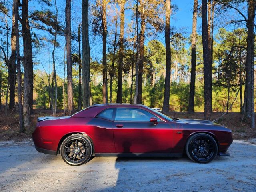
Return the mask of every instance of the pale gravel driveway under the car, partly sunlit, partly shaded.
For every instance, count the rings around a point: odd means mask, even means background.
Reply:
[[[75,167],[37,152],[31,140],[0,142],[0,191],[256,191],[256,145],[234,140],[229,152],[209,164],[97,157]]]

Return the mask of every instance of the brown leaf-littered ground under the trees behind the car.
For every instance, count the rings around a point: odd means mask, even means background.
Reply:
[[[34,126],[36,125],[37,118],[40,116],[51,116],[51,110],[34,109],[34,114],[31,116],[30,128],[25,133],[19,133],[19,115],[14,111],[0,112],[0,140],[23,140],[31,138]],[[62,116],[62,110],[59,110],[57,116]],[[191,118],[191,119],[203,119],[203,112],[195,112],[188,114],[187,112],[170,112],[168,116],[175,118]],[[213,112],[211,120],[215,120],[222,115],[221,112]],[[250,139],[256,138],[256,129],[251,129],[250,124],[246,122],[241,123],[242,114],[230,112],[226,114],[217,123],[223,124],[232,130],[234,139]]]

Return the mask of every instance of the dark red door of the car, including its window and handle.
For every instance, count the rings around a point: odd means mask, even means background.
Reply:
[[[150,122],[151,117],[158,124]],[[114,143],[117,153],[170,153],[173,129],[168,122],[140,108],[116,108]]]

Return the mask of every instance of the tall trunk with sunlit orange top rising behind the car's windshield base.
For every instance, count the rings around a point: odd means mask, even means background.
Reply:
[[[171,80],[171,44],[170,44],[170,10],[171,1],[165,2],[165,54],[166,54],[166,70],[165,70],[165,82],[164,82],[164,104],[163,112],[169,112],[170,102],[170,80]]]

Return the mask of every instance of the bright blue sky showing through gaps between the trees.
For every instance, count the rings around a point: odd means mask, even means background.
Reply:
[[[31,1],[32,3],[30,4],[30,8],[32,9],[40,9],[42,8],[42,5],[37,4],[37,1]],[[90,1],[89,1],[90,3]],[[136,2],[134,1],[133,4]],[[200,2],[199,2],[200,3]],[[175,4],[178,6],[178,10],[172,14],[171,16],[171,22],[170,25],[178,30],[182,30],[182,32],[185,33],[185,36],[189,36],[191,31],[192,31],[192,10],[193,10],[193,0],[172,0],[171,4]],[[65,1],[64,0],[57,0],[57,6],[59,9],[59,20],[61,20],[64,24],[64,9],[65,9]],[[82,3],[80,0],[72,0],[72,31],[76,32],[78,24],[81,22],[81,6]],[[128,6],[128,5],[126,5]],[[54,8],[54,7],[53,7]],[[164,12],[164,10],[163,10]],[[110,14],[110,13],[109,13]],[[131,20],[131,12],[129,10],[126,10],[126,24]],[[230,15],[232,17],[237,17],[237,14],[232,12]],[[91,17],[91,16],[90,16]],[[110,20],[111,17],[108,17],[108,20]],[[230,19],[230,18],[226,18]],[[224,26],[225,19],[221,22],[218,23],[218,27]],[[109,23],[108,23],[109,24]],[[202,24],[202,19],[198,17],[197,20],[197,29],[198,29],[198,34],[201,33],[201,24]],[[127,26],[126,26],[127,27]],[[217,32],[218,27],[214,30],[214,33]],[[111,30],[113,30],[113,26],[111,24],[108,25],[108,30],[109,30],[109,35],[111,36]],[[40,32],[42,35],[44,35],[44,32]],[[113,34],[113,33],[112,33]],[[48,35],[48,34],[47,34]],[[49,36],[49,35],[48,35]],[[163,34],[160,35],[161,41],[164,43],[164,36]],[[60,42],[60,48],[56,50],[56,66],[57,66],[57,73],[63,77],[64,74],[64,66],[63,66],[63,50],[64,50],[64,37],[58,36],[57,39]],[[147,43],[147,42],[145,42]],[[108,48],[111,48],[110,45],[107,45]],[[72,47],[74,49],[77,49],[77,42],[72,41]],[[102,37],[101,36],[92,36],[90,34],[90,48],[91,48],[91,57],[93,59],[96,59],[98,61],[101,60],[102,57]],[[40,60],[42,64],[44,64],[44,68],[48,72],[48,70],[52,70],[52,47],[48,46],[47,48],[42,48],[39,53],[35,55],[34,62],[36,60]],[[49,61],[50,61],[50,68],[49,68]],[[42,68],[42,64],[39,64],[38,66],[35,66],[34,69],[40,69],[44,70]]]

